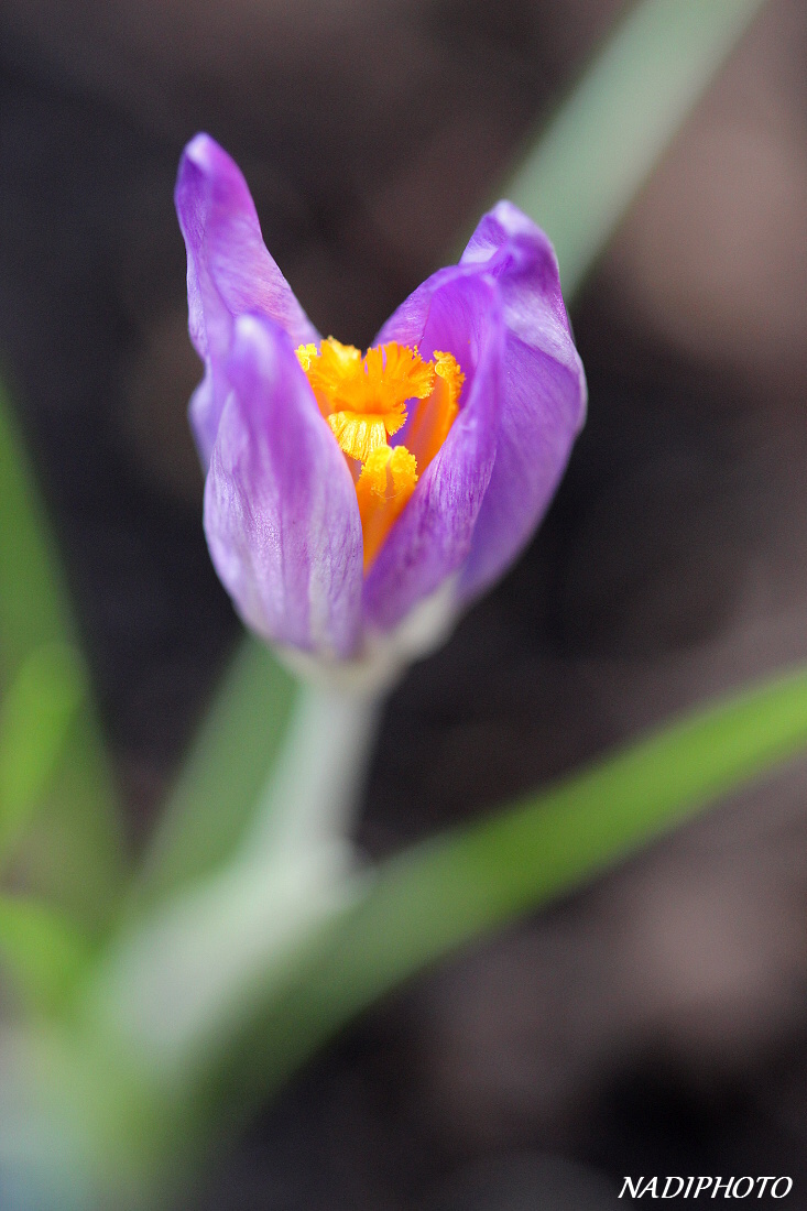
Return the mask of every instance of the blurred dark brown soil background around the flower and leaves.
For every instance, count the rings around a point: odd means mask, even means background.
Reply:
[[[237,637],[185,421],[183,144],[224,144],[314,323],[367,345],[622,8],[0,4],[0,360],[133,849]],[[807,656],[806,294],[807,7],[771,0],[578,297],[588,427],[391,698],[365,851]],[[807,1207],[803,764],[373,1011],[188,1207],[586,1211],[626,1173],[786,1173]]]

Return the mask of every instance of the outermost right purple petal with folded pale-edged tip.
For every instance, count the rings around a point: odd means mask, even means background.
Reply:
[[[502,294],[505,390],[496,465],[459,592],[496,580],[530,541],[585,419],[585,377],[544,233],[510,202],[480,222],[460,265],[492,275]]]

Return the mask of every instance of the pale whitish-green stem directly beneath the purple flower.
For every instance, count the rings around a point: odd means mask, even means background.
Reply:
[[[88,995],[93,1031],[187,1081],[251,1012],[251,989],[282,980],[297,949],[354,894],[348,830],[379,701],[298,693],[286,744],[250,831],[217,873],[132,918]]]

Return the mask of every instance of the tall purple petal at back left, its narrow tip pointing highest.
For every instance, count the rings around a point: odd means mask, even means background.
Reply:
[[[267,252],[239,167],[208,134],[198,134],[185,148],[174,201],[188,249],[190,337],[205,360],[190,419],[206,465],[227,400],[222,361],[234,318],[265,315],[294,345],[320,337]]]

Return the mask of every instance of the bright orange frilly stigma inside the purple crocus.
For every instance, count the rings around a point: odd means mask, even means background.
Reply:
[[[319,350],[301,345],[297,357],[349,460],[366,572],[412,495],[418,474],[446,440],[465,375],[452,354],[435,352],[424,362],[417,349],[394,340],[368,349],[362,358],[359,349],[328,337]],[[388,438],[405,425],[406,444],[391,447]]]

